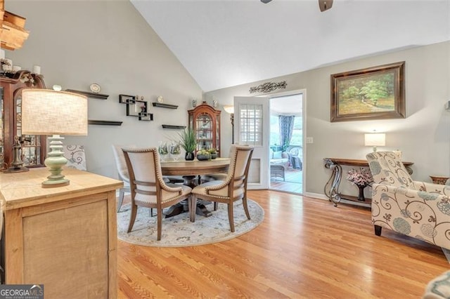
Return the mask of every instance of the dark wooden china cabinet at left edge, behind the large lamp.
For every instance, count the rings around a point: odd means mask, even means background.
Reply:
[[[23,166],[44,166],[46,157],[45,135],[22,135],[22,91],[25,88],[46,88],[43,77],[29,71],[0,74],[0,169],[13,161],[15,136],[21,143]]]

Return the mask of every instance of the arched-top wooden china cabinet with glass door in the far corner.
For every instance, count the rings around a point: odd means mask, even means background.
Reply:
[[[189,127],[195,132],[197,150],[215,148],[220,157],[220,110],[216,110],[207,102],[188,110]]]

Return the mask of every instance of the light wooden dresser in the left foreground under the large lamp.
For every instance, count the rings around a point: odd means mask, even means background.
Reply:
[[[122,181],[65,168],[0,173],[6,284],[44,284],[45,298],[117,298],[115,190]]]

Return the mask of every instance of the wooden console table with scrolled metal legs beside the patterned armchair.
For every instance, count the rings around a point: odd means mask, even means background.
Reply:
[[[325,195],[328,197],[330,201],[338,206],[338,202],[341,199],[346,199],[349,201],[349,204],[358,203],[359,206],[371,206],[372,199],[366,199],[365,201],[359,201],[358,197],[353,197],[351,195],[340,194],[339,185],[340,180],[342,179],[342,165],[345,166],[356,166],[356,167],[368,167],[368,161],[366,160],[357,160],[357,159],[338,159],[338,158],[323,158],[325,162],[325,168],[331,170],[330,178],[328,182],[326,182],[325,187],[323,187],[323,191]],[[411,169],[411,165],[413,162],[402,162],[406,168],[406,171],[411,175],[413,170]]]

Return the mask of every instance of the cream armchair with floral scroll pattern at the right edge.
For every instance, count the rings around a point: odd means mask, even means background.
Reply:
[[[450,186],[413,181],[394,152],[366,155],[373,176],[372,222],[442,248],[450,260]]]

